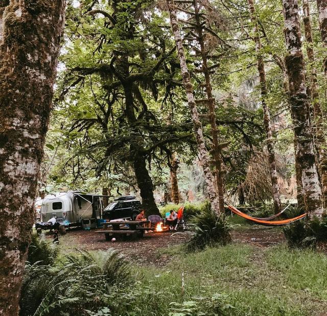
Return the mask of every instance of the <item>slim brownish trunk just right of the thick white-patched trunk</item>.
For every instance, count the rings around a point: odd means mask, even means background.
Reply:
[[[314,66],[315,57],[313,51],[313,37],[311,28],[311,18],[310,18],[310,6],[308,0],[302,0],[303,4],[303,24],[305,26],[305,36],[307,45],[307,55],[311,65],[311,98],[312,98],[312,111],[313,119],[311,120],[312,126],[314,128],[314,144],[318,157],[316,161],[319,166],[321,188],[322,188],[322,201],[323,206],[327,206],[327,151],[326,151],[326,141],[323,133],[323,114],[319,102],[319,92],[318,92],[318,79],[317,79],[317,69]]]

